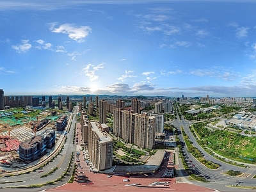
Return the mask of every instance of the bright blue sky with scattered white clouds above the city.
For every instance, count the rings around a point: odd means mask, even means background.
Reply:
[[[0,89],[256,97],[255,7],[235,0],[0,0]]]

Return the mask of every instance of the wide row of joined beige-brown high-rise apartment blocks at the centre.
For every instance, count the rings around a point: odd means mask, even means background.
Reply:
[[[113,133],[127,143],[143,148],[154,148],[156,117],[114,109]]]

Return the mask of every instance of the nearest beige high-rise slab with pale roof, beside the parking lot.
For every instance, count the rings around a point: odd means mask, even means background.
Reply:
[[[113,140],[102,131],[97,122],[88,122],[88,154],[97,170],[111,168],[113,162]]]

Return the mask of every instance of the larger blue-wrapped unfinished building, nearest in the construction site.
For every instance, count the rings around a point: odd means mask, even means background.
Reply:
[[[19,157],[22,161],[29,163],[44,156],[47,148],[55,145],[55,130],[46,129],[40,136],[35,136],[31,140],[21,142],[19,145]]]

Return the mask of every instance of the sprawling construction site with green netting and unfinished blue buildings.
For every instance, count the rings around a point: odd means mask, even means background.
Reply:
[[[40,160],[60,138],[56,122],[67,120],[67,115],[51,110],[13,109],[0,114],[0,173]]]

